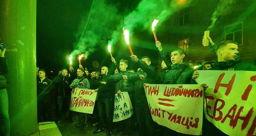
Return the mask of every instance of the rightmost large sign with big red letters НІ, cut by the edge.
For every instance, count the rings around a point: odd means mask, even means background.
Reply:
[[[256,136],[256,72],[198,71],[198,84],[207,83],[205,116],[230,136]]]

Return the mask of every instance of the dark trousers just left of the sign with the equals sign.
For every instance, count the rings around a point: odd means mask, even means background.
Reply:
[[[148,107],[147,101],[138,102],[135,100],[137,122],[139,125],[139,136],[155,136],[154,121]]]

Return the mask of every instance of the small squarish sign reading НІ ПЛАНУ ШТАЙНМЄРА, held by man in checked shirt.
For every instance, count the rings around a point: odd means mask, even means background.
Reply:
[[[70,110],[93,113],[97,92],[90,89],[74,88],[71,92]]]

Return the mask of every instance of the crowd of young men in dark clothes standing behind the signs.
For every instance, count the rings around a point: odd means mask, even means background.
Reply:
[[[94,106],[93,115],[96,122],[93,125],[97,129],[93,133],[100,133],[107,130],[107,136],[111,136],[113,129],[113,105],[114,95],[120,95],[122,92],[128,92],[132,105],[134,106],[134,115],[131,118],[119,122],[119,136],[130,136],[131,128],[137,124],[139,136],[188,136],[178,133],[167,127],[157,125],[151,117],[151,111],[144,90],[144,84],[197,84],[195,79],[199,77],[198,69],[201,70],[234,70],[234,71],[256,71],[256,66],[251,63],[241,61],[238,51],[238,43],[235,41],[223,41],[218,45],[207,38],[210,43],[210,49],[216,54],[216,59],[211,62],[205,62],[201,68],[193,68],[193,62],[183,62],[186,56],[181,48],[176,48],[169,55],[163,49],[161,42],[156,42],[156,48],[163,59],[161,71],[151,66],[151,59],[144,56],[139,59],[136,55],[131,56],[138,69],[128,70],[128,60],[121,59],[118,62],[111,58],[113,69],[110,66],[103,66],[101,71],[89,71],[85,68],[78,68],[76,72],[72,67],[68,70],[61,70],[61,74],[52,81],[47,79],[45,71],[37,71],[37,91],[38,91],[38,122],[42,120],[51,120],[50,96],[49,93],[55,86],[58,101],[58,116],[56,123],[61,122],[63,118],[73,122],[72,113],[69,111],[70,96],[73,88],[93,89],[98,92],[97,100]],[[203,40],[204,44],[204,40]],[[201,85],[207,89],[207,84]],[[86,113],[77,113],[78,122],[74,127],[87,129],[87,120],[89,115]],[[136,122],[136,123],[134,123]],[[156,130],[158,130],[156,132]],[[204,136],[225,136],[226,134],[218,130],[212,123],[204,119]]]

